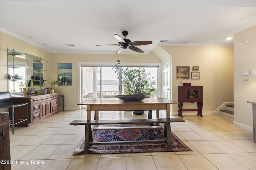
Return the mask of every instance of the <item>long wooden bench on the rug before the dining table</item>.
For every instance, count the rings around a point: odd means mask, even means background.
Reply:
[[[101,145],[101,144],[116,144],[116,143],[152,143],[152,142],[168,142],[169,149],[172,149],[172,134],[171,134],[171,122],[184,122],[183,119],[179,117],[173,118],[160,118],[160,119],[127,119],[127,120],[74,120],[70,125],[85,125],[85,139],[84,139],[84,153],[89,153],[90,145]],[[98,127],[98,125],[112,125],[112,124],[138,124],[138,123],[164,123],[164,126],[130,126],[130,127]],[[93,129],[91,125],[94,125]],[[110,129],[164,129],[164,139],[158,140],[148,140],[148,141],[114,141],[114,142],[93,142],[92,141],[92,131],[93,130],[110,130]]]

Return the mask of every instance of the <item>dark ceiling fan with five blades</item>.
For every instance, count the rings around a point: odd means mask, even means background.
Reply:
[[[119,54],[123,51],[123,49],[131,49],[133,51],[136,51],[138,53],[144,53],[141,49],[138,47],[135,47],[134,45],[148,45],[152,44],[152,41],[131,41],[130,39],[126,39],[126,36],[128,35],[128,31],[123,31],[122,32],[124,35],[124,39],[120,37],[117,34],[114,34],[114,37],[118,40],[118,44],[106,44],[106,45],[119,45],[121,46],[117,51],[116,54]],[[96,45],[100,46],[100,45]]]

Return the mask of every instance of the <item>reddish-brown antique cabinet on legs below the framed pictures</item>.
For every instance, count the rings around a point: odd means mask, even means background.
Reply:
[[[197,103],[198,109],[182,109],[183,103]],[[182,111],[197,111],[197,115],[202,116],[203,108],[203,86],[178,86],[178,112],[182,116]]]

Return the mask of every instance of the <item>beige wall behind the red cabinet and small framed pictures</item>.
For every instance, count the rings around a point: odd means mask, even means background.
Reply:
[[[172,57],[172,100],[178,101],[178,86],[203,86],[203,114],[224,102],[233,102],[233,47],[162,47]],[[176,66],[199,66],[200,80],[176,79]],[[190,74],[191,78],[191,74]],[[196,108],[185,103],[183,108]],[[173,107],[173,112],[178,108]],[[184,112],[186,114],[187,112]]]

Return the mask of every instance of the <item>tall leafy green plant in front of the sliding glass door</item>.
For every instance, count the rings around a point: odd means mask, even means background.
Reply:
[[[156,81],[151,80],[150,74],[145,69],[123,68],[119,65],[120,60],[117,61],[112,70],[114,70],[117,78],[121,80],[124,94],[147,94],[152,96],[152,93],[156,91],[154,87]]]

